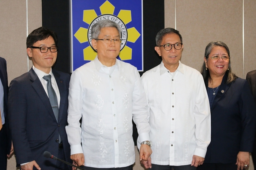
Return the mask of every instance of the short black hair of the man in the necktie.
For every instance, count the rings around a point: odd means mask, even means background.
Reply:
[[[52,36],[54,43],[57,46],[58,37],[56,32],[49,30],[46,27],[39,27],[35,29],[29,34],[29,36],[27,36],[27,48],[30,48],[37,41],[44,40],[49,36]]]

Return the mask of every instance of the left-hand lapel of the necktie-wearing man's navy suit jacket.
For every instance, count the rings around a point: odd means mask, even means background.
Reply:
[[[56,120],[54,113],[52,111],[52,106],[50,104],[49,97],[47,96],[41,81],[37,77],[37,74],[35,73],[35,71],[32,68],[29,70],[29,78],[32,81],[31,86],[34,88],[34,90],[37,92],[38,96],[41,98],[42,102],[45,105],[45,108],[50,113],[50,115],[54,118],[54,120]]]

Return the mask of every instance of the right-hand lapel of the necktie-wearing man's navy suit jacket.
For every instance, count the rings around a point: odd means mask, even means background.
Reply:
[[[66,98],[65,85],[64,85],[64,81],[60,78],[59,73],[55,72],[54,70],[52,70],[52,73],[55,77],[55,80],[56,80],[56,83],[58,85],[59,92],[60,92],[60,107],[59,107],[59,120],[58,120],[58,122],[60,122],[62,113],[63,113],[63,109],[64,109],[65,98]]]

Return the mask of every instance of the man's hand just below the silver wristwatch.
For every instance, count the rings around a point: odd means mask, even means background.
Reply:
[[[151,158],[152,150],[147,144],[142,144],[140,146],[140,162],[145,166],[145,168],[151,168]]]

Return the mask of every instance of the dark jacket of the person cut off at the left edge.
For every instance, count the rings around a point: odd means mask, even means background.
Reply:
[[[5,126],[7,130],[7,152],[10,154],[11,151],[11,132],[9,129],[9,121],[8,121],[8,110],[7,110],[7,101],[8,101],[8,79],[7,79],[7,67],[6,67],[6,61],[4,58],[0,57],[0,78],[1,78],[1,83],[4,88],[4,119],[5,119]]]

